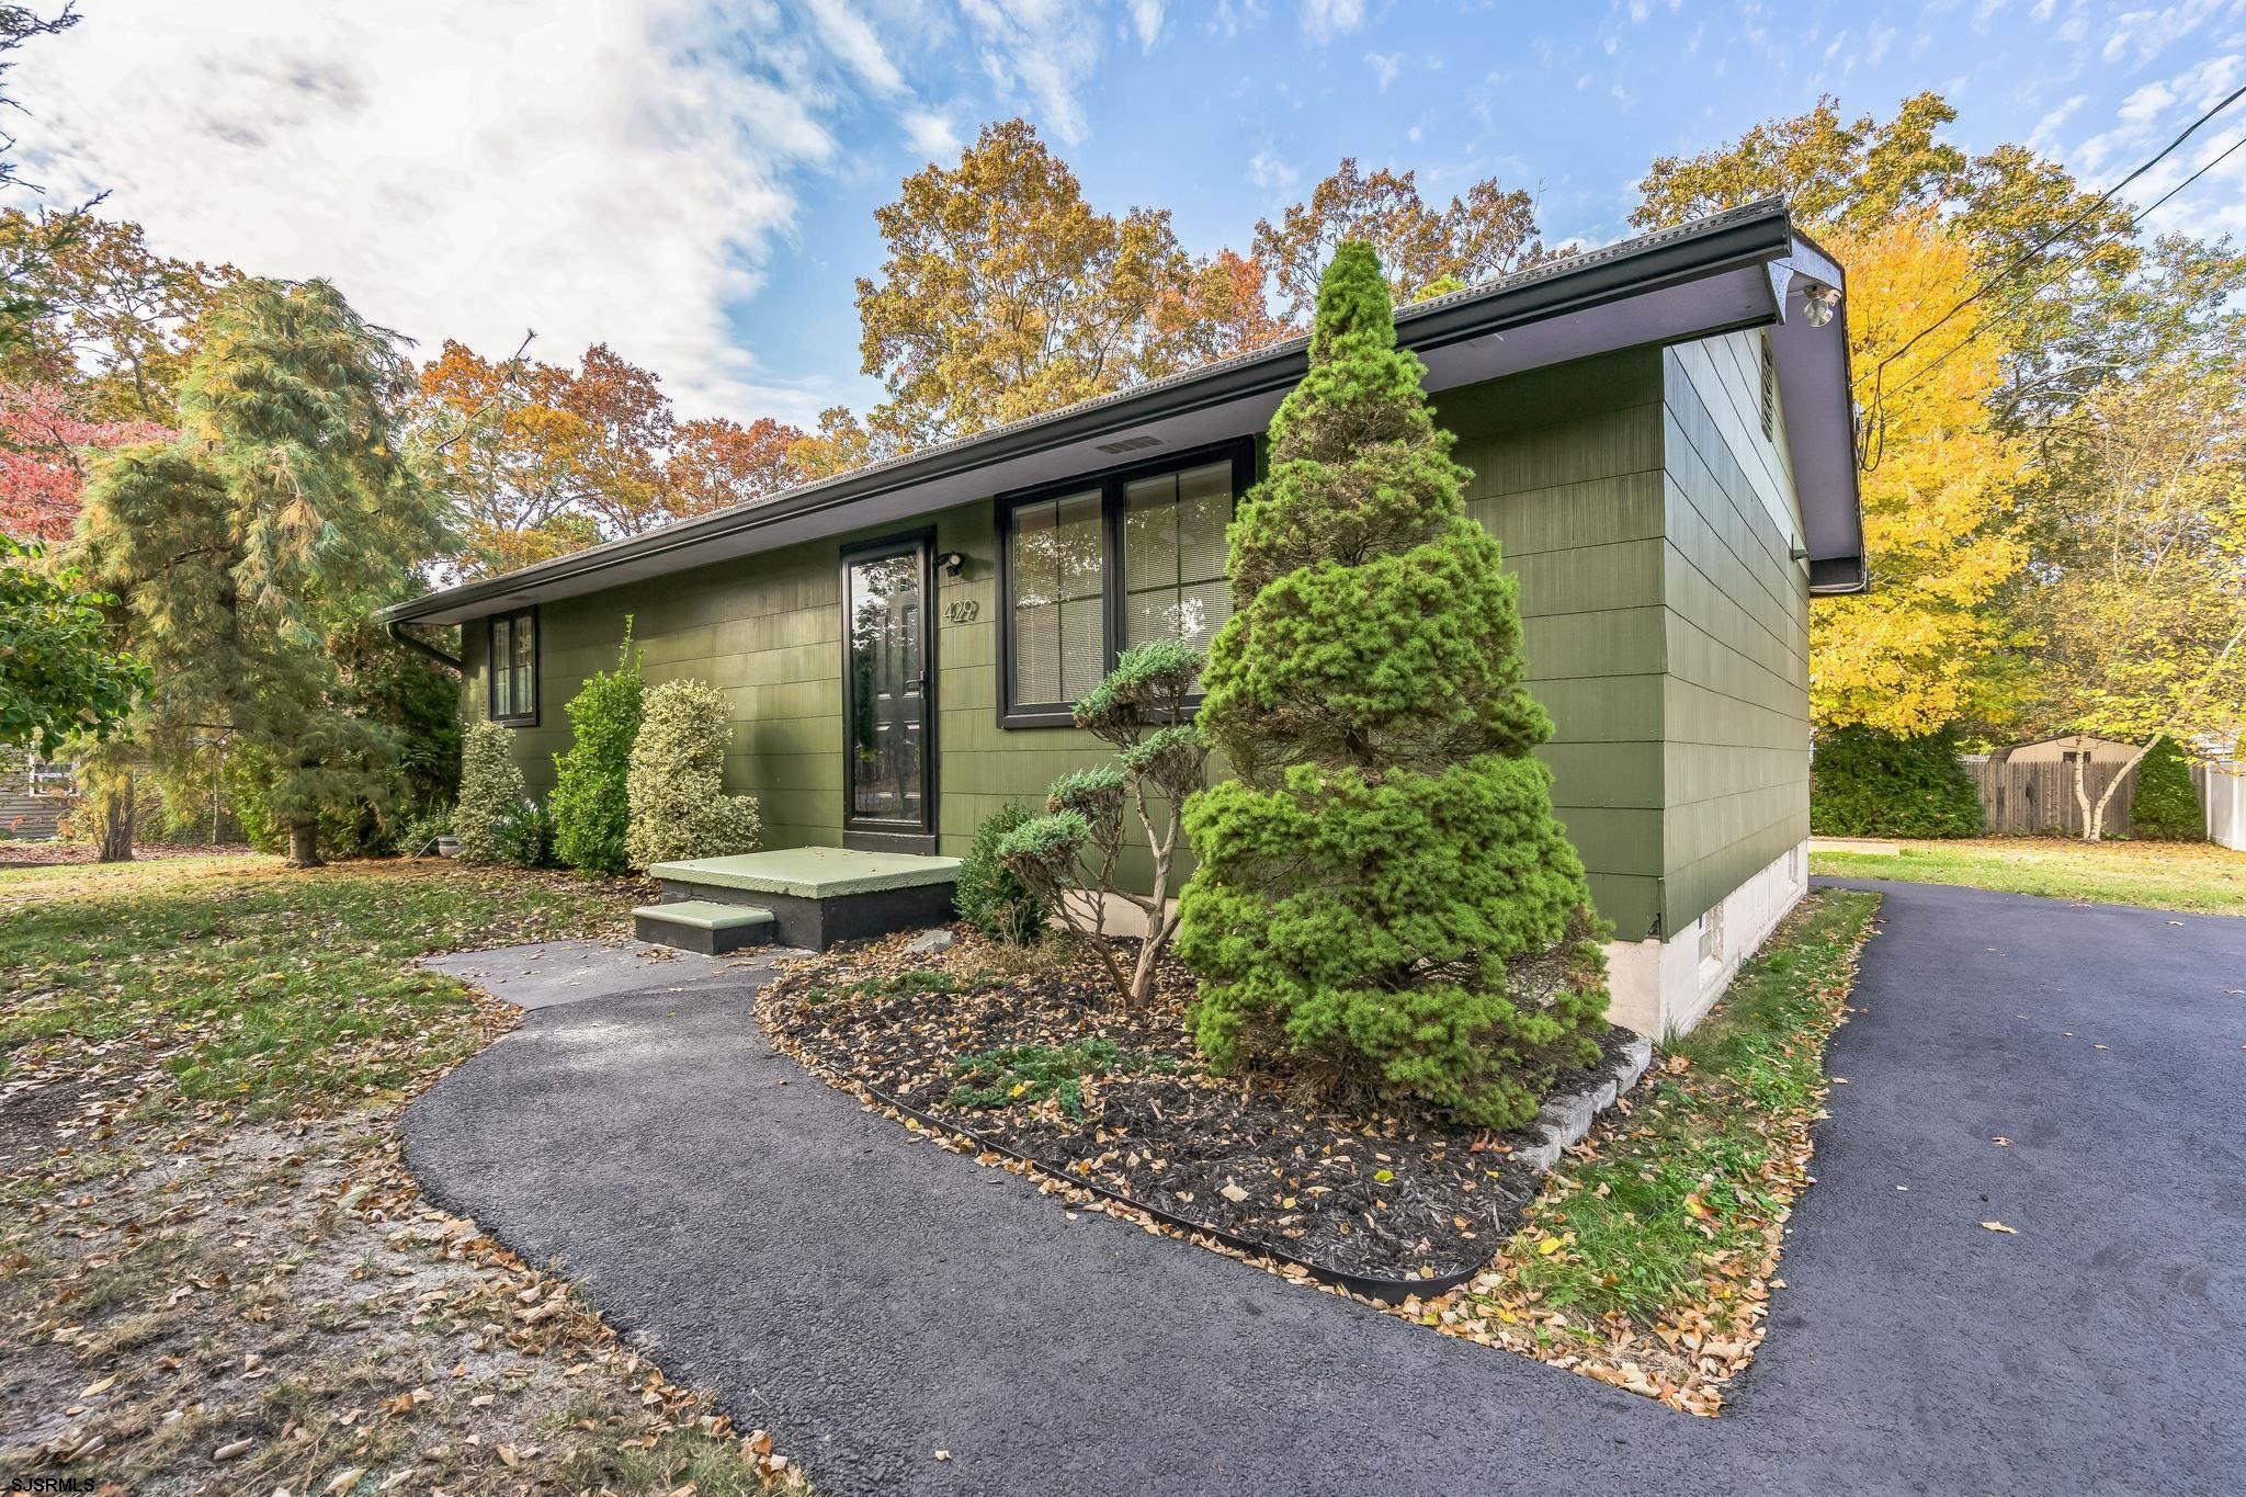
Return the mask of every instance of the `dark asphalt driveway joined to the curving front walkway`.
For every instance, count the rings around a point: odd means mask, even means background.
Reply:
[[[914,1145],[757,974],[528,1012],[409,1163],[822,1493],[2246,1490],[2246,920],[1880,889],[1720,1421]]]

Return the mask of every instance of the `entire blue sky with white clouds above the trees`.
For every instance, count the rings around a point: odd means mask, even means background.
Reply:
[[[175,254],[337,278],[431,346],[604,339],[685,413],[869,404],[851,278],[871,209],[1024,114],[1110,211],[1247,247],[1343,155],[1482,175],[1547,240],[1628,233],[1631,184],[1759,119],[1887,114],[2024,139],[2107,184],[2246,83],[2246,0],[90,0],[27,52],[18,137],[49,198],[110,191]],[[2246,132],[2210,128],[2147,198]],[[2246,153],[2161,227],[2246,233]]]

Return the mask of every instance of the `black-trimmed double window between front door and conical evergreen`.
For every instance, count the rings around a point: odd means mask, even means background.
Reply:
[[[1145,640],[1202,649],[1231,617],[1224,527],[1251,478],[1238,444],[999,500],[999,720],[1047,727]]]

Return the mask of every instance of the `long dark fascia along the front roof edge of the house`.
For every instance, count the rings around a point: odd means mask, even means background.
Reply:
[[[1642,245],[1626,254],[1590,258],[1565,267],[1552,276],[1525,283],[1509,283],[1485,292],[1458,292],[1435,296],[1397,310],[1397,343],[1413,350],[1446,348],[1467,339],[1487,337],[1521,323],[1543,321],[1563,312],[1579,312],[1610,301],[1622,301],[1644,292],[1655,292],[1682,281],[1696,281],[1738,265],[1774,260],[1792,245],[1795,231],[1786,206],[1777,200],[1750,204],[1734,213],[1718,215],[1696,231]],[[1123,391],[1107,399],[1062,408],[1049,417],[1035,417],[997,431],[966,438],[934,451],[898,458],[887,465],[858,469],[822,480],[791,496],[759,505],[719,509],[710,516],[683,521],[645,536],[609,541],[568,557],[555,557],[519,572],[487,577],[445,593],[431,593],[404,604],[384,608],[377,617],[416,619],[447,608],[474,608],[503,599],[523,588],[550,581],[586,577],[615,566],[663,557],[667,552],[703,545],[728,534],[761,530],[782,521],[802,518],[849,505],[874,494],[901,489],[937,478],[970,474],[975,469],[1026,458],[1053,447],[1069,447],[1087,438],[1107,435],[1130,426],[1190,415],[1208,406],[1231,404],[1253,395],[1287,391],[1300,384],[1309,368],[1309,341],[1287,339],[1273,348],[1217,364],[1208,370],[1188,370],[1172,379]]]

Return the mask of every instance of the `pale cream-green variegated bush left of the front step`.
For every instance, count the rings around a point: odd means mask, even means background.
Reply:
[[[755,797],[725,795],[730,743],[732,720],[716,687],[667,680],[647,694],[627,777],[631,833],[624,853],[633,869],[757,851],[764,826]]]

